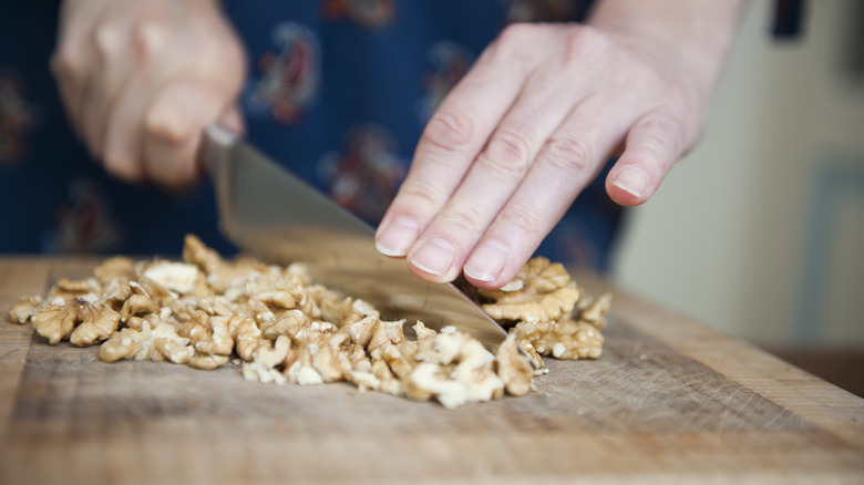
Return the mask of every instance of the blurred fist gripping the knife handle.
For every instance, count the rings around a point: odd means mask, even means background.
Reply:
[[[58,39],[70,121],[120,178],[187,184],[207,123],[243,130],[245,54],[215,0],[66,0]]]

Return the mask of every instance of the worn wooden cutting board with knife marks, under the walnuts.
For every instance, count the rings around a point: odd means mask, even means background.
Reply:
[[[93,259],[0,258],[0,309]],[[0,484],[864,483],[864,400],[615,293],[597,361],[446,410],[348,384],[103,363],[0,318]]]

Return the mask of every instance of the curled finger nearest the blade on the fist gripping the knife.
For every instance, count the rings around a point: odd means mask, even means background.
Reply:
[[[173,80],[153,100],[145,114],[142,151],[147,177],[166,186],[197,178],[195,153],[204,126],[233,109],[225,94],[206,83]],[[237,128],[238,122],[223,116]]]

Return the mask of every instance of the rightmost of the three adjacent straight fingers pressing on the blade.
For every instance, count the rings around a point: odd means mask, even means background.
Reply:
[[[516,276],[618,144],[630,105],[607,95],[573,109],[469,256],[470,282],[497,288]]]

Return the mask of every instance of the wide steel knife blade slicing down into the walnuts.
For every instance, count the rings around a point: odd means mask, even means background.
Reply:
[[[403,260],[378,252],[371,226],[233,132],[208,125],[197,163],[213,180],[220,230],[240,249],[274,264],[302,262],[316,282],[372,303],[385,320],[452,324],[493,352],[506,337],[459,288],[423,281]]]

